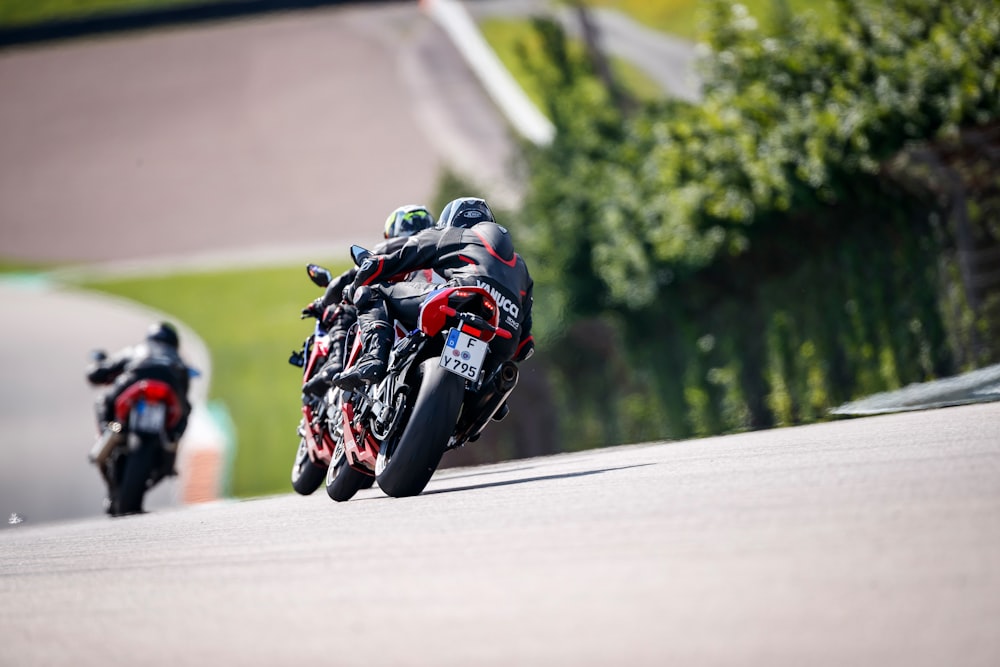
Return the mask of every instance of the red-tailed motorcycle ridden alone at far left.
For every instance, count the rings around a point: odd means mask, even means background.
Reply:
[[[99,362],[107,355],[99,350],[93,358]],[[198,375],[192,368],[188,372]],[[104,427],[88,454],[107,485],[108,514],[141,513],[146,492],[176,474],[177,443],[168,433],[181,419],[182,410],[173,387],[155,379],[136,380],[115,399],[115,419]]]

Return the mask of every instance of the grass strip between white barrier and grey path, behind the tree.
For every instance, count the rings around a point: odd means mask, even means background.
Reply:
[[[539,88],[537,77],[526,67],[519,55],[519,47],[523,46],[529,54],[537,53],[541,44],[531,28],[531,22],[515,19],[489,19],[479,25],[483,37],[496,52],[497,57],[510,71],[514,79],[521,85],[528,98],[539,109],[544,109],[544,95]],[[573,40],[570,48],[582,49],[578,40]],[[660,87],[646,76],[642,70],[621,58],[612,58],[611,67],[618,76],[621,85],[639,100],[656,100],[663,97]]]

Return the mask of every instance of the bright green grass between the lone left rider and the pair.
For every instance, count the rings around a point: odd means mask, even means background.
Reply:
[[[347,268],[327,266],[334,272]],[[300,320],[300,310],[322,293],[304,264],[81,286],[152,306],[197,332],[212,356],[210,398],[225,403],[236,427],[233,495],[290,489],[301,374],[288,356],[312,330],[313,321]]]

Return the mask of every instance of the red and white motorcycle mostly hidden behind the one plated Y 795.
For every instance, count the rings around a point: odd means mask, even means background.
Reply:
[[[306,271],[310,280],[319,287],[326,288],[333,280],[330,271],[322,266],[309,264]],[[330,321],[338,315],[339,312],[335,311]],[[324,327],[322,315],[319,315],[313,332],[306,337],[300,351],[292,352],[288,363],[302,369],[302,384],[305,384],[323,368],[329,355],[330,334]],[[302,392],[302,418],[297,429],[299,447],[291,475],[292,488],[296,493],[308,496],[323,484],[336,443],[341,439],[339,419],[329,418],[331,414],[339,414],[339,401],[339,390],[336,389],[322,398]]]

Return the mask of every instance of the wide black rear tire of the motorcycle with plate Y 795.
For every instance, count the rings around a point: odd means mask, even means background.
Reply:
[[[379,488],[393,498],[418,495],[431,481],[455,430],[465,396],[465,380],[438,365],[421,365],[423,381],[399,443],[377,476]]]

